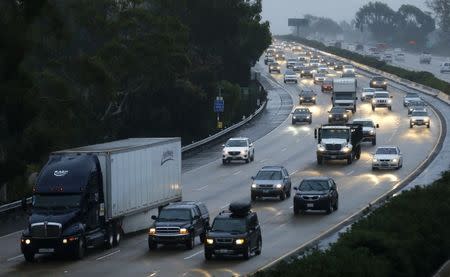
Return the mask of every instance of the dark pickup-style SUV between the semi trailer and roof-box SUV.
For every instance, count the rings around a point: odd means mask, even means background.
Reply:
[[[148,248],[156,249],[158,244],[184,244],[194,248],[195,237],[205,241],[209,227],[209,212],[205,204],[194,201],[171,203],[165,206],[148,232]]]

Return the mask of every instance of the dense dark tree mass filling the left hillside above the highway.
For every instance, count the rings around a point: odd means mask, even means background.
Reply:
[[[207,136],[218,84],[239,101],[271,42],[260,13],[245,0],[0,1],[0,184],[23,185],[53,150]]]

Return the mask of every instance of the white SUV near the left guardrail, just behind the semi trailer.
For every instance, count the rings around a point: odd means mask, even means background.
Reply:
[[[245,161],[249,163],[255,159],[255,147],[249,138],[230,138],[222,150],[222,163],[231,161]]]

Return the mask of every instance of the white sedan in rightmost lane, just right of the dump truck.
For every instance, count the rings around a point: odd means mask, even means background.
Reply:
[[[372,158],[372,170],[400,169],[403,166],[403,157],[398,146],[380,146]]]

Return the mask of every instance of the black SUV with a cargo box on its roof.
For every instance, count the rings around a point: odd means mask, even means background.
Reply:
[[[261,254],[262,237],[258,216],[247,202],[234,202],[221,212],[206,235],[205,259],[212,256]]]

